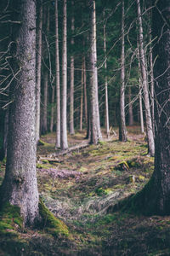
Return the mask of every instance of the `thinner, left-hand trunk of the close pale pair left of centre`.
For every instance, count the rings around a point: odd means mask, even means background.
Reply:
[[[56,83],[56,143],[60,148],[60,79],[59,79],[59,21],[58,0],[55,0],[55,83]]]

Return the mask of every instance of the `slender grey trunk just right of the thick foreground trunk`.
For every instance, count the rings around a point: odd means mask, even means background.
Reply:
[[[40,99],[41,99],[41,69],[42,69],[42,0],[37,5],[37,70],[36,70],[36,140],[40,138]]]

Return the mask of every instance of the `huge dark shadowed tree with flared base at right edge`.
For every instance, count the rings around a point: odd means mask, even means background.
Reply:
[[[156,153],[155,170],[150,182],[127,203],[146,214],[170,214],[170,2],[153,0],[152,33],[157,42],[153,48],[156,59],[155,121]]]

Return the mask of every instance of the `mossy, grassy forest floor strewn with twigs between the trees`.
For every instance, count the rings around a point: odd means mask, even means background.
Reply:
[[[0,230],[0,255],[170,255],[169,216],[112,211],[118,201],[142,189],[154,169],[139,127],[127,131],[127,143],[111,134],[110,140],[67,154],[54,149],[54,133],[43,136],[37,148],[39,193],[70,235]],[[84,137],[84,132],[69,136],[69,146],[81,144]],[[2,162],[0,181],[4,167]]]

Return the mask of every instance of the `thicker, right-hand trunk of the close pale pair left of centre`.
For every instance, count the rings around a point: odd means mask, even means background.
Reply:
[[[61,97],[61,149],[68,148],[67,143],[67,17],[66,0],[63,0],[63,49],[62,49],[62,97]]]

